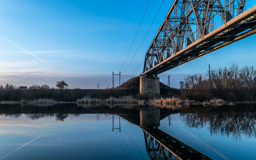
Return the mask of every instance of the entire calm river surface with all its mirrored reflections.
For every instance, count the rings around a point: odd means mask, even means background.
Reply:
[[[0,106],[0,159],[255,159],[256,106]]]

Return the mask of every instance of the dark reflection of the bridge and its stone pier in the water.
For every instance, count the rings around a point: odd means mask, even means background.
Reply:
[[[160,109],[140,110],[140,127],[143,129],[146,151],[151,160],[210,159],[158,129],[160,117]]]

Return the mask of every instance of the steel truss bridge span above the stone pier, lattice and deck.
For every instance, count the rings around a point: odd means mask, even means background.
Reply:
[[[256,32],[246,0],[174,0],[146,52],[143,75],[158,75]]]

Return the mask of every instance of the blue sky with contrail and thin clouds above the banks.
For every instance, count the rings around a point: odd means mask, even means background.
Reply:
[[[143,61],[172,3],[173,0],[165,0],[124,75]],[[66,80],[70,86],[80,88],[97,88],[97,83],[101,88],[112,85],[112,72],[117,73],[121,68],[147,4],[148,1],[140,0],[0,1],[0,36],[47,62],[0,37],[0,84],[54,86],[56,81]],[[138,50],[161,4],[162,1],[151,0],[124,69]],[[252,35],[171,69],[159,75],[160,80],[167,83],[167,75],[170,75],[171,86],[178,87],[178,81],[187,74],[205,74],[208,64],[213,68],[229,66],[233,62],[240,66],[254,65],[255,38],[256,35]],[[134,76],[142,71],[141,67]],[[125,80],[127,77],[124,76],[121,82]],[[117,82],[118,77],[116,85]]]

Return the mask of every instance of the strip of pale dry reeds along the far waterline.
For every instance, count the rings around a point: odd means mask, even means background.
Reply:
[[[108,99],[96,99],[90,97],[83,97],[78,99],[76,102],[60,102],[53,99],[34,99],[21,101],[1,101],[0,104],[20,104],[37,106],[37,107],[50,107],[56,104],[77,104],[78,107],[85,107],[86,105],[133,105],[133,106],[153,106],[153,107],[189,107],[190,105],[204,105],[204,106],[222,106],[222,105],[235,105],[235,104],[255,104],[256,101],[245,101],[245,102],[225,102],[222,99],[211,99],[204,102],[195,100],[181,99],[178,97],[172,98],[154,98],[147,100],[135,99],[134,96],[122,96],[122,97],[110,97]]]

